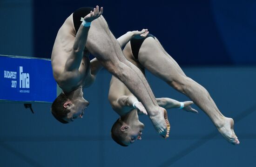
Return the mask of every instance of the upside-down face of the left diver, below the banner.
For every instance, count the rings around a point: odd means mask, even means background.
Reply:
[[[89,102],[85,99],[83,100],[76,100],[74,103],[68,103],[67,109],[70,110],[69,113],[67,113],[67,118],[64,120],[67,122],[73,122],[77,118],[83,118],[84,110],[89,105]]]

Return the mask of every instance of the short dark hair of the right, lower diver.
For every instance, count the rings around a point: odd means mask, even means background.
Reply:
[[[127,136],[127,133],[121,131],[122,125],[121,118],[118,118],[111,128],[111,137],[117,144],[127,147],[128,145],[122,143]]]

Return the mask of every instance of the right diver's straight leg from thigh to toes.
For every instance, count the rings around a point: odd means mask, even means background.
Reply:
[[[233,140],[236,135],[232,118],[223,116],[209,92],[187,77],[175,60],[162,50],[163,48],[159,46],[161,44],[156,43],[153,38],[145,39],[138,56],[140,63],[155,76],[162,78],[170,86],[188,96],[209,116],[225,139],[233,144],[239,142]]]

